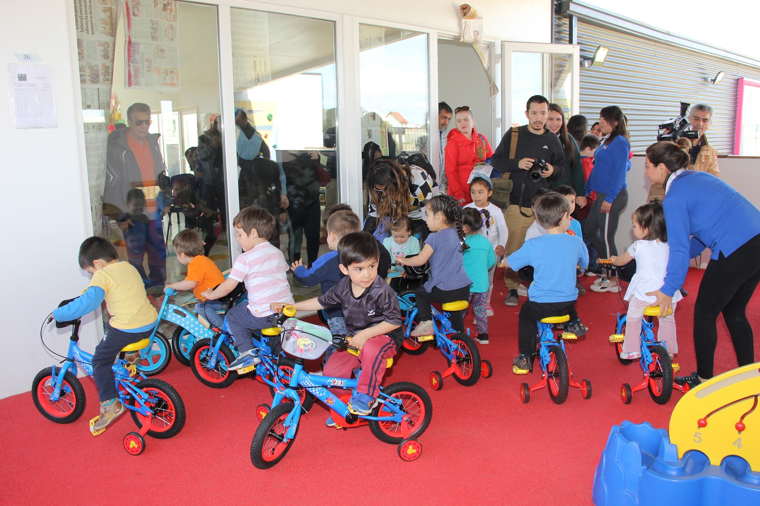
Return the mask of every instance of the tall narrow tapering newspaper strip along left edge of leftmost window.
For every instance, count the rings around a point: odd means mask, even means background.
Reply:
[[[100,225],[118,0],[73,0],[94,229]]]

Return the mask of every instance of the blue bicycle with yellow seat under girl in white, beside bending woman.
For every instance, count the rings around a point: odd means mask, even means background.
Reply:
[[[649,306],[644,308],[646,319],[641,320],[641,359],[639,365],[644,372],[644,379],[641,383],[631,387],[628,383],[620,386],[620,398],[623,403],[630,404],[633,392],[649,390],[649,395],[657,404],[666,404],[673,394],[673,388],[686,394],[689,391],[689,384],[683,386],[673,381],[673,376],[679,370],[678,364],[671,363],[670,355],[664,343],[654,338],[654,321],[653,318],[660,314],[660,306]],[[622,342],[625,340],[625,313],[618,313],[617,323],[615,325],[615,334],[610,336],[610,343],[614,343],[615,354],[622,365],[629,365],[635,359],[621,359]]]

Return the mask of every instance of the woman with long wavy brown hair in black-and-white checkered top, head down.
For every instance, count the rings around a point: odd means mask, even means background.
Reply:
[[[390,224],[403,217],[412,221],[413,232],[424,242],[430,233],[425,205],[439,194],[435,179],[416,165],[377,160],[367,176],[367,219],[364,229],[378,239],[391,236]]]

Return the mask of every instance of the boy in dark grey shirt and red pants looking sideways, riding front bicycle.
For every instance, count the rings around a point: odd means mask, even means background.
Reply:
[[[350,378],[354,368],[361,365],[362,374],[356,393],[348,401],[348,409],[357,415],[368,415],[377,402],[379,385],[385,375],[386,362],[396,354],[404,340],[401,331],[401,311],[396,293],[378,277],[380,258],[378,243],[369,232],[351,232],[337,244],[340,271],[346,274],[327,293],[292,304],[298,311],[318,311],[340,305],[351,336],[349,344],[359,349],[359,356],[339,350],[325,364],[324,375]],[[288,302],[275,302],[280,311]],[[332,417],[328,427],[335,425]]]

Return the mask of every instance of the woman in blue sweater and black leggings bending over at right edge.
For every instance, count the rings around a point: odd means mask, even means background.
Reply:
[[[755,362],[752,327],[746,308],[760,281],[760,211],[738,191],[708,172],[686,170],[689,154],[672,142],[647,148],[646,175],[663,185],[665,225],[670,245],[663,287],[657,296],[660,315],[683,285],[689,258],[710,248],[710,263],[694,304],[694,350],[697,370],[676,378],[692,386],[713,376],[717,316],[723,313],[739,367]],[[689,239],[691,237],[691,239]]]

